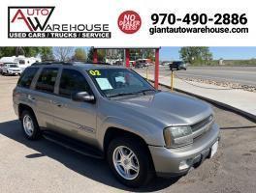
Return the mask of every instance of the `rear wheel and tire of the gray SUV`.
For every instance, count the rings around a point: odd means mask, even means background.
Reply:
[[[27,123],[27,124],[26,124]],[[21,113],[21,127],[24,136],[29,140],[37,140],[41,136],[41,130],[34,114],[29,110]]]

